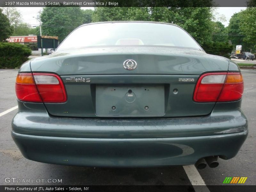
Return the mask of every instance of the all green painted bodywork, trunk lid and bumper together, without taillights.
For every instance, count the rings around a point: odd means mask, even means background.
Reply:
[[[136,69],[124,69],[128,59],[137,62]],[[231,60],[189,48],[57,50],[24,63],[19,73],[59,75],[67,101],[18,100],[12,137],[26,158],[52,164],[136,167],[195,164],[207,156],[230,159],[248,135],[241,100],[193,101],[200,75],[227,71],[240,69]],[[85,81],[68,80],[72,78]],[[179,81],[183,78],[194,80]],[[129,90],[140,95],[132,107],[119,102]],[[135,106],[141,111],[133,111]]]

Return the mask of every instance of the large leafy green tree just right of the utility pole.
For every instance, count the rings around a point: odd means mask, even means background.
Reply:
[[[84,15],[80,7],[44,7],[41,21],[43,35],[58,36],[61,42],[83,24]]]

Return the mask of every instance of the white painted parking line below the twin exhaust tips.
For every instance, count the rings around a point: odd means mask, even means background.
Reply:
[[[203,178],[197,171],[195,165],[184,165],[183,168],[186,174],[188,175],[188,179],[190,180],[190,183],[191,185],[193,185],[193,188],[196,192],[210,192],[207,186],[205,185]]]

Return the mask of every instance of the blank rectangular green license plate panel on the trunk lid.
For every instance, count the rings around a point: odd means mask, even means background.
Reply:
[[[164,85],[96,85],[97,116],[163,116]]]

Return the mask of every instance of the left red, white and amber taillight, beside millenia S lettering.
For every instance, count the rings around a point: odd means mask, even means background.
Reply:
[[[67,100],[63,82],[55,74],[20,73],[15,89],[21,101],[59,103]]]

